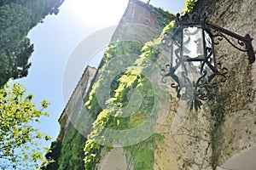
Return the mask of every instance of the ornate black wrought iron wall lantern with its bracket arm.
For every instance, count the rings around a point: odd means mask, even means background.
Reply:
[[[166,34],[163,43],[171,48],[170,64],[161,70],[162,82],[166,77],[175,81],[171,84],[177,91],[177,98],[187,100],[190,109],[201,108],[202,100],[207,100],[212,89],[219,82],[225,82],[228,69],[217,63],[214,55],[214,45],[226,39],[227,42],[242,51],[247,52],[249,63],[253,64],[253,39],[247,34],[241,37],[222,27],[207,22],[207,14],[177,14],[177,27],[172,36]],[[228,37],[237,40],[238,45]]]

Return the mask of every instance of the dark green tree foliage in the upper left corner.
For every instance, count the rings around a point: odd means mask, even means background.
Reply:
[[[26,77],[33,45],[28,31],[48,14],[57,14],[61,0],[0,0],[0,87],[10,78]]]

